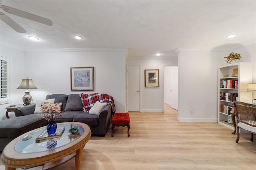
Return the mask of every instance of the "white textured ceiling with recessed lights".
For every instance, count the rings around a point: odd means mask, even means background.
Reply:
[[[24,50],[127,48],[128,57],[177,57],[176,48],[228,47],[256,38],[256,1],[2,0],[49,18],[47,26],[8,14],[27,33],[0,22],[1,42]],[[235,38],[225,38],[229,34]],[[80,35],[82,40],[75,40]],[[27,37],[36,36],[38,42]]]

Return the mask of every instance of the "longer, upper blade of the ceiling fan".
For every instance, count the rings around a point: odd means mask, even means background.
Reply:
[[[27,18],[29,20],[40,22],[40,23],[46,24],[48,26],[52,26],[52,20],[49,20],[47,18],[44,18],[44,17],[41,17],[41,16],[37,16],[35,14],[31,14],[31,13],[28,13],[28,12],[25,12],[25,11],[22,11],[22,10],[18,10],[16,8],[12,8],[10,6],[2,5],[1,8],[4,11],[6,11],[6,12],[8,12],[10,14],[14,14],[14,15],[20,16],[22,18]]]

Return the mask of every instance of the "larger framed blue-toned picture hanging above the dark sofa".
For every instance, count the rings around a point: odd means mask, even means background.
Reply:
[[[71,91],[94,90],[93,67],[70,67]]]

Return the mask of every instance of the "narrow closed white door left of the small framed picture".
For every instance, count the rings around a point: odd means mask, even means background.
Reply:
[[[128,66],[128,112],[140,112],[140,66]]]

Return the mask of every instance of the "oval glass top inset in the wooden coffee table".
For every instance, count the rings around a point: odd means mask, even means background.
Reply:
[[[36,153],[56,149],[78,139],[85,131],[84,127],[76,123],[62,125],[57,124],[57,127],[64,127],[65,129],[61,137],[36,141],[36,138],[45,130],[45,128],[42,128],[20,139],[15,144],[14,149],[21,153]],[[70,128],[76,127],[80,128],[76,134],[68,132]]]

